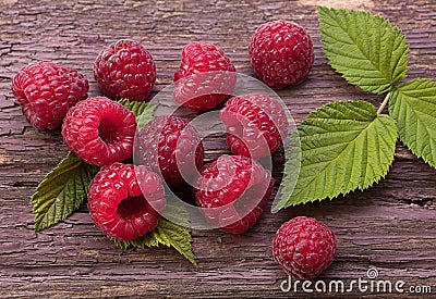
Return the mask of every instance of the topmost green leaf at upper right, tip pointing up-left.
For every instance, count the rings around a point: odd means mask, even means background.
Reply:
[[[363,90],[384,94],[405,77],[409,46],[398,27],[366,11],[318,7],[329,64]]]

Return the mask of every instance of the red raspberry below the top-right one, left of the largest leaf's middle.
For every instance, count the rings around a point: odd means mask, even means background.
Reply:
[[[283,108],[265,95],[250,94],[227,101],[221,109],[227,144],[234,154],[257,159],[272,153],[288,133]]]

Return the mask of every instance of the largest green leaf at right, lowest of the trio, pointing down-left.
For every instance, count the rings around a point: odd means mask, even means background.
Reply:
[[[322,107],[291,137],[281,197],[272,211],[371,187],[387,174],[397,138],[395,120],[377,114],[368,102]]]

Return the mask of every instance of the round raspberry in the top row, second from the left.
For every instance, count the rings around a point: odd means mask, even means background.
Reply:
[[[109,98],[144,101],[155,85],[156,65],[141,43],[121,39],[98,54],[94,77]]]

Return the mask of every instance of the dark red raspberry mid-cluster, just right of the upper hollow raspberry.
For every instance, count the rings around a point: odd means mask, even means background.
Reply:
[[[155,117],[141,129],[135,142],[137,163],[160,173],[170,187],[182,186],[202,166],[198,133],[179,116]]]

